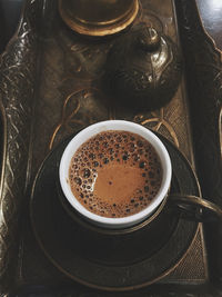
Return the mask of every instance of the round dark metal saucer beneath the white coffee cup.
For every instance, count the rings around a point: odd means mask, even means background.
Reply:
[[[186,159],[161,139],[173,166],[171,192],[200,196]],[[58,195],[58,167],[69,140],[44,160],[32,189],[31,220],[46,256],[68,277],[105,290],[135,289],[170,273],[186,254],[198,222],[183,220],[167,204],[154,220],[133,232],[111,236],[80,224],[82,218]]]

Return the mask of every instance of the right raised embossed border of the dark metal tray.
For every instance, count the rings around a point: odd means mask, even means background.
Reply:
[[[206,34],[195,1],[178,1],[198,176],[203,197],[222,206],[222,61]],[[208,226],[211,273],[222,285],[222,226]]]

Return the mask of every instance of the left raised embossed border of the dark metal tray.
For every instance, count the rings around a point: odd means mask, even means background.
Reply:
[[[28,184],[29,146],[34,97],[37,2],[27,4],[17,37],[0,60],[3,154],[0,185],[0,294],[12,286],[18,253],[19,218]]]

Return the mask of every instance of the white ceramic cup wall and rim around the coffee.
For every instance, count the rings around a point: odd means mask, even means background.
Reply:
[[[91,137],[108,130],[129,131],[143,137],[155,149],[162,166],[162,182],[157,196],[152,199],[151,204],[143,208],[140,212],[122,218],[107,218],[89,211],[74,197],[69,182],[70,162],[75,151]],[[164,198],[168,196],[168,191],[170,189],[172,166],[168,150],[165,149],[162,141],[152,131],[134,122],[124,120],[108,120],[91,125],[72,138],[62,155],[59,168],[59,177],[65,198],[75,209],[75,211],[83,216],[83,218],[85,218],[89,222],[103,228],[120,229],[128,228],[141,222],[145,218],[150,217],[159,208]]]

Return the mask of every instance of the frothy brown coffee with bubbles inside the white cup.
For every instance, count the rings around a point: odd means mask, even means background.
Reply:
[[[69,180],[89,211],[111,218],[143,210],[162,181],[160,159],[151,143],[127,131],[105,131],[85,141],[72,157]]]

